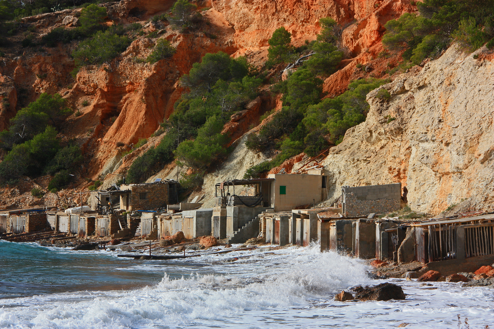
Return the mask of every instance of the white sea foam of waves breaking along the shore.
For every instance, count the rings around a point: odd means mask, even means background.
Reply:
[[[242,262],[218,263],[233,256]],[[170,279],[133,291],[74,292],[3,299],[1,328],[456,328],[456,315],[471,328],[493,324],[493,292],[399,280],[404,301],[335,302],[332,295],[357,284],[376,284],[363,262],[317,247],[210,255],[216,274]],[[123,260],[124,261],[124,260]],[[127,260],[128,261],[128,260]],[[146,266],[136,266],[136,271]],[[387,280],[390,281],[390,280]],[[18,306],[17,306],[18,305]],[[475,324],[475,326],[473,325]]]

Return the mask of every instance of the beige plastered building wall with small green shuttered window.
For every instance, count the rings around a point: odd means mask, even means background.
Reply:
[[[274,178],[271,183],[271,207],[275,212],[291,210],[295,207],[321,202],[325,196],[323,189],[324,176],[270,174]],[[280,186],[286,186],[286,194],[280,194]],[[314,201],[315,200],[315,201]]]

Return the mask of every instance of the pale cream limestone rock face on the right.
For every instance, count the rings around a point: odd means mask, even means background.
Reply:
[[[437,215],[464,199],[461,210],[492,209],[493,58],[485,47],[466,55],[452,46],[382,86],[389,101],[369,93],[366,121],[323,161],[330,197],[342,185],[402,183],[413,211]]]

